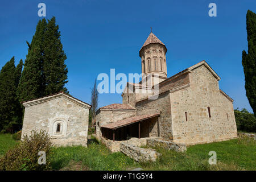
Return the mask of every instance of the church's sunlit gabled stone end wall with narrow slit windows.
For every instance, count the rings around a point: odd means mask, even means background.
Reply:
[[[216,77],[204,65],[189,76],[191,85],[170,96],[173,141],[196,144],[236,138],[233,103],[220,92]]]

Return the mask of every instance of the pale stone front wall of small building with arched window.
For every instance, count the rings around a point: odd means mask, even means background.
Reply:
[[[45,130],[58,146],[87,144],[89,109],[60,97],[25,108],[22,136],[32,130]],[[56,122],[61,126],[61,134],[55,135]]]

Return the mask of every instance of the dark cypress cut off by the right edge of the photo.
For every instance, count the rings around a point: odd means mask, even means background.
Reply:
[[[248,53],[242,52],[245,73],[246,96],[256,117],[256,14],[248,10],[246,14]]]

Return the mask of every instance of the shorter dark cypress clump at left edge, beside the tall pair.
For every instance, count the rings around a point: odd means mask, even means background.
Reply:
[[[21,123],[22,107],[16,96],[21,69],[22,61],[15,68],[12,57],[0,72],[0,130],[2,131],[13,132],[14,125]]]

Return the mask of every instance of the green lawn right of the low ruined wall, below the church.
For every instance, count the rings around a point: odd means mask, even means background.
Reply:
[[[155,163],[142,164],[147,170],[256,170],[256,140],[239,138],[225,142],[197,144],[181,154],[156,148],[162,156]],[[216,151],[217,164],[210,165],[209,151]]]

